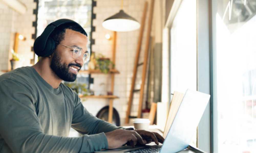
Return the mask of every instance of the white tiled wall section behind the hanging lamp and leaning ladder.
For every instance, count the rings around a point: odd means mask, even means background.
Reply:
[[[141,18],[143,14],[144,3],[146,0],[126,0],[123,1],[123,10],[134,17],[137,21],[141,23]],[[141,54],[139,62],[143,62],[144,52],[145,52],[145,43],[146,43],[146,35],[148,28],[148,16],[149,16],[149,7],[150,1],[148,1],[148,11],[147,18],[145,22],[145,29],[141,47]],[[112,41],[105,39],[105,34],[110,34],[113,36],[113,32],[106,30],[102,27],[102,22],[119,12],[121,9],[121,1],[120,0],[97,0],[97,6],[94,7],[94,13],[96,14],[96,19],[93,20],[93,26],[95,26],[95,32],[92,33],[92,38],[95,39],[95,44],[92,45],[92,51],[96,54],[101,53],[105,55],[105,57],[112,57]],[[114,108],[117,109],[121,119],[121,125],[123,125],[129,94],[130,87],[132,82],[133,75],[133,66],[136,55],[136,47],[138,42],[139,30],[131,31],[131,32],[117,32],[117,42],[116,42],[116,64],[115,67],[120,71],[120,74],[115,75],[115,83],[114,83],[114,95],[119,96],[119,99],[114,100]],[[93,74],[94,85],[93,88],[95,92],[99,92],[101,90],[102,85],[106,84],[106,88],[110,91],[110,75],[104,74]],[[142,78],[142,66],[138,69],[137,79],[135,84],[135,89],[140,88],[141,79]],[[147,80],[146,80],[147,83]],[[146,89],[146,83],[144,89]],[[144,90],[144,102],[146,98],[146,90]],[[134,94],[132,113],[131,115],[137,116],[138,110],[138,102],[139,102],[139,92]],[[108,105],[108,100],[105,99],[87,99],[83,102],[84,106],[94,115],[104,106]],[[93,105],[92,105],[93,104]]]

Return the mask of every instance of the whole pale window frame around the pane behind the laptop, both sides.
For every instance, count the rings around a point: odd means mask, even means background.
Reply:
[[[168,1],[168,0],[166,0]],[[164,41],[169,42],[170,29],[172,22],[176,16],[182,0],[174,0],[167,18],[164,33],[168,32],[168,36],[164,37]],[[212,2],[211,0],[197,0],[197,91],[213,95],[214,86],[212,84],[213,69],[212,69]],[[164,42],[163,42],[164,45]],[[163,49],[168,49],[170,52],[170,43],[165,45]],[[170,68],[170,53],[169,53],[169,68]],[[169,69],[170,77],[170,69]],[[169,86],[170,86],[169,82]],[[170,88],[169,88],[170,90]],[[211,96],[209,104],[200,120],[197,130],[197,147],[206,151],[213,152],[216,146],[214,143],[217,138],[214,135],[214,114],[213,104],[214,97]]]

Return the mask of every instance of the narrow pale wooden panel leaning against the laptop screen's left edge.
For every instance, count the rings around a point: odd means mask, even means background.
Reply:
[[[183,97],[184,97],[183,93],[179,93],[175,91],[173,94],[173,98],[170,104],[169,114],[168,114],[167,121],[164,128],[164,135],[163,135],[164,138],[167,136],[167,133],[169,132],[169,129],[173,123],[173,120],[176,116],[176,113],[179,109],[179,106],[181,104]]]

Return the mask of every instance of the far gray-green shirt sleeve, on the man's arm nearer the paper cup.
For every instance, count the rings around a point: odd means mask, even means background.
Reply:
[[[98,134],[110,132],[116,129],[124,129],[111,123],[98,119],[83,107],[78,95],[75,95],[76,106],[74,107],[71,127],[80,134]]]

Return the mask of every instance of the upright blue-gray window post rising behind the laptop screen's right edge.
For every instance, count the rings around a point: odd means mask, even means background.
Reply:
[[[198,91],[211,95],[198,125],[198,148],[214,152],[211,0],[197,0],[197,58]]]

